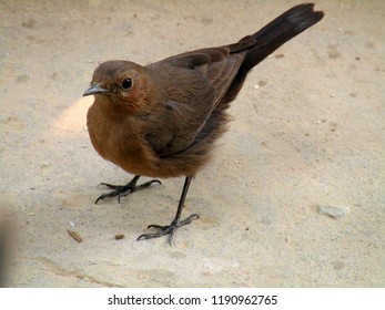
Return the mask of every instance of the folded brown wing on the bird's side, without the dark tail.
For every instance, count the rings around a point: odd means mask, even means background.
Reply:
[[[245,52],[232,53],[230,46],[221,46],[186,52],[148,66],[159,81],[163,101],[149,116],[145,140],[160,156],[194,144],[244,56]]]

